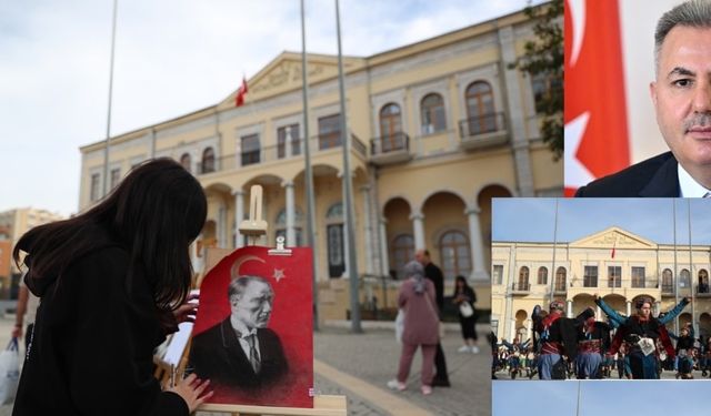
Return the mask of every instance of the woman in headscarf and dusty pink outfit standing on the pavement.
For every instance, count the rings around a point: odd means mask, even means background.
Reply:
[[[432,393],[434,371],[434,353],[439,342],[439,315],[434,300],[434,285],[424,278],[424,268],[418,262],[404,266],[408,280],[400,286],[398,306],[404,311],[404,329],[402,332],[402,353],[398,367],[398,377],[388,382],[388,387],[397,390],[407,388],[410,365],[418,347],[422,349],[423,395]]]

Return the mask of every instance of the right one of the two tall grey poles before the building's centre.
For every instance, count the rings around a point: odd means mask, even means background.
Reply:
[[[346,226],[348,235],[348,278],[350,280],[351,290],[351,332],[361,333],[363,329],[360,325],[360,305],[358,303],[358,263],[356,260],[356,239],[353,226],[353,190],[351,187],[351,135],[348,131],[348,116],[346,113],[346,87],[343,80],[343,53],[341,52],[341,16],[339,11],[339,2],[336,0],[336,34],[338,38],[338,85],[341,101],[341,145],[343,148],[343,197],[346,209]]]

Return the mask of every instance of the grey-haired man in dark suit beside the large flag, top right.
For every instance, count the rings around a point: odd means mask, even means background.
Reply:
[[[650,92],[671,152],[593,181],[575,196],[704,197],[711,190],[711,2],[668,11],[654,39]]]

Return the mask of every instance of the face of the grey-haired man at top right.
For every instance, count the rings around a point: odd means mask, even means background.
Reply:
[[[699,172],[711,175],[711,29],[669,32],[650,91],[657,123],[677,160],[697,172],[694,179]]]

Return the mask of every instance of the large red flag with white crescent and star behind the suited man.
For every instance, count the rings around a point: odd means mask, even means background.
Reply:
[[[565,0],[565,195],[630,164],[619,0]]]

